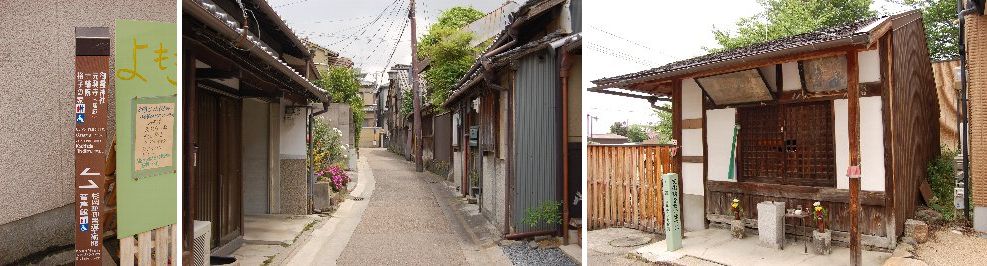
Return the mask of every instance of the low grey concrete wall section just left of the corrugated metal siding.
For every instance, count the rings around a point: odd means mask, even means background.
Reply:
[[[480,211],[503,233],[507,206],[507,184],[504,160],[483,156],[483,200]]]

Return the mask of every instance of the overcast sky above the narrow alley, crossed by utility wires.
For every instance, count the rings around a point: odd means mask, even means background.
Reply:
[[[487,13],[503,3],[500,0],[416,0],[418,36],[427,33],[428,25],[435,22],[442,10],[472,6]],[[271,0],[270,4],[299,37],[308,37],[352,58],[354,66],[365,73],[388,68],[392,51],[390,65],[411,63],[411,25],[405,24],[408,0]]]

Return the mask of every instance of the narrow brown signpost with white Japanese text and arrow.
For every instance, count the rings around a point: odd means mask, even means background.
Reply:
[[[76,265],[102,265],[109,75],[109,28],[75,28]]]

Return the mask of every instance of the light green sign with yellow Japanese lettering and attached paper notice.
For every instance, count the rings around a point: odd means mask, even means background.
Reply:
[[[178,220],[175,23],[117,20],[117,237]]]

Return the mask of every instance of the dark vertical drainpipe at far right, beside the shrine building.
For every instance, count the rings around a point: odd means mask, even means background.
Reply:
[[[969,93],[969,88],[966,80],[966,45],[964,43],[963,35],[965,34],[965,26],[963,18],[966,15],[974,14],[976,8],[971,7],[969,9],[963,9],[963,0],[956,0],[956,11],[957,17],[960,20],[960,36],[959,36],[959,50],[960,50],[960,108],[963,108],[963,127],[959,128],[963,134],[960,135],[960,149],[963,153],[963,216],[970,220],[970,112],[967,105],[969,104],[969,99],[967,94]]]

